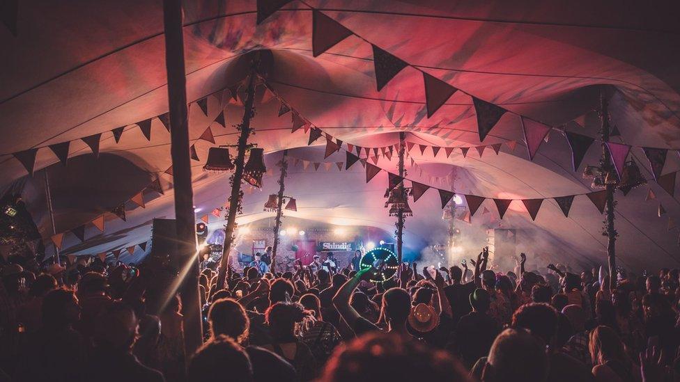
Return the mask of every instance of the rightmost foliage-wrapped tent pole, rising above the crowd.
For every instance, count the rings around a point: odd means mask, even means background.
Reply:
[[[610,138],[610,125],[609,125],[609,111],[608,111],[608,101],[605,97],[603,91],[600,93],[600,118],[601,118],[601,135],[602,135],[602,163],[601,170],[605,173],[613,173],[612,160],[607,148],[607,142]],[[615,289],[617,285],[617,270],[616,270],[616,237],[617,232],[614,228],[614,209],[616,202],[614,200],[614,192],[616,191],[617,184],[607,183],[607,200],[606,200],[606,216],[607,225],[605,227],[605,232],[608,237],[607,243],[607,257],[609,260],[609,282],[611,289]]]

